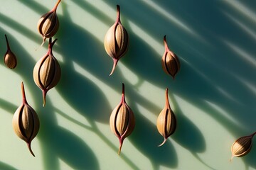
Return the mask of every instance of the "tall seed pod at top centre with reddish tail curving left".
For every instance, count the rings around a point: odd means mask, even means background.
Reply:
[[[114,72],[115,67],[119,59],[127,52],[129,45],[129,35],[124,26],[122,26],[120,20],[120,7],[117,5],[117,20],[114,25],[107,30],[104,40],[105,50],[110,57],[113,59],[112,72]]]

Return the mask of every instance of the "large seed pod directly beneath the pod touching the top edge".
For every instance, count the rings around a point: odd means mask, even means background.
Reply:
[[[33,69],[33,79],[43,92],[43,106],[46,105],[46,93],[60,80],[60,64],[53,56],[53,42],[49,39],[48,52],[39,60]]]

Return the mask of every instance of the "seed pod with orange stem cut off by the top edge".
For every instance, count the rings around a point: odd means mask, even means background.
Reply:
[[[42,45],[46,41],[46,38],[52,38],[58,31],[59,21],[56,11],[60,1],[61,0],[58,0],[53,9],[41,16],[38,21],[38,32],[43,37]]]

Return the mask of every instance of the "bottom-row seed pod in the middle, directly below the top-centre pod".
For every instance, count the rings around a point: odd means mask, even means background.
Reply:
[[[119,139],[119,151],[121,152],[123,141],[131,135],[135,126],[135,118],[132,109],[127,105],[124,98],[124,84],[122,84],[122,98],[119,105],[110,115],[110,129]]]

